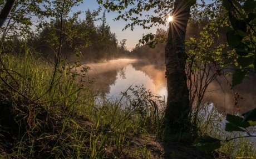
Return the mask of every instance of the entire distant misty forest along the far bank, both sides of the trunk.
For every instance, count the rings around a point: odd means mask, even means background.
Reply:
[[[100,25],[96,25],[95,22],[101,22]],[[209,18],[205,17],[200,22],[196,20],[190,20],[188,23],[186,39],[198,38],[203,27],[208,24]],[[61,56],[64,60],[75,61],[76,59],[82,62],[99,62],[105,60],[111,60],[116,58],[137,58],[146,59],[149,63],[164,64],[165,57],[165,45],[164,39],[167,39],[168,32],[164,29],[157,29],[154,34],[154,38],[161,43],[154,45],[154,48],[149,47],[149,43],[138,44],[132,50],[127,50],[126,39],[119,40],[116,38],[115,33],[111,32],[110,26],[106,21],[106,12],[99,16],[99,11],[91,12],[88,9],[85,12],[85,19],[78,19],[77,17],[70,17],[64,19],[63,23],[66,24],[66,28],[63,28],[62,37],[62,50]],[[27,39],[20,33],[13,33],[4,41],[5,50],[14,50],[16,53],[21,53],[24,44],[27,47],[35,49],[40,57],[52,61],[56,52],[55,40],[52,39],[52,35],[59,34],[60,22],[51,20],[43,24],[38,29],[38,34],[28,35]],[[225,33],[229,28],[219,29],[221,37],[218,43],[227,42]],[[35,32],[34,32],[35,33]],[[73,35],[73,37],[72,37]],[[161,41],[161,39],[163,39]]]

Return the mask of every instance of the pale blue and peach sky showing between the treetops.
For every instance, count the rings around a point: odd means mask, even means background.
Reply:
[[[199,1],[199,0],[198,0]],[[211,1],[211,0],[206,0],[206,1]],[[93,9],[99,8],[99,4],[96,2],[96,0],[83,0],[83,3],[80,4],[78,7],[75,7],[72,9],[73,12],[76,11],[82,11],[85,12],[88,9],[91,11]],[[119,20],[119,21],[114,21],[113,19],[119,16],[119,13],[117,12],[110,12],[106,13],[106,19],[107,19],[107,24],[110,25],[111,32],[116,34],[117,40],[122,40],[126,39],[126,47],[128,50],[132,50],[136,46],[136,44],[139,43],[139,40],[142,38],[143,34],[148,34],[148,33],[156,33],[157,28],[162,28],[162,29],[168,29],[168,24],[166,25],[161,25],[160,27],[152,27],[150,30],[144,30],[142,27],[135,27],[135,29],[132,31],[131,29],[127,29],[122,31],[122,29],[125,27],[125,22],[124,20]],[[85,17],[85,13],[81,14],[81,19]],[[100,22],[96,22],[96,25],[100,25]]]

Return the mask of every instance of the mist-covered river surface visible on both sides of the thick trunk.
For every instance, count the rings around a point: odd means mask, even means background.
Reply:
[[[88,76],[92,79],[93,88],[106,95],[107,98],[118,99],[121,92],[130,86],[144,85],[152,94],[167,98],[165,65],[149,63],[139,59],[115,59],[102,63],[86,64],[90,66]],[[230,80],[231,78],[228,78]],[[256,76],[250,75],[243,83],[230,89],[227,80],[218,77],[213,81],[205,94],[204,102],[213,102],[221,112],[237,113],[234,106],[234,93],[243,97],[238,101],[240,114],[252,110],[256,103]]]

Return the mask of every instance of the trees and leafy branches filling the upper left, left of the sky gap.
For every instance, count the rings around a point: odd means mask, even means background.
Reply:
[[[61,61],[61,54],[70,59],[75,55],[76,58],[83,57],[88,60],[100,60],[102,53],[105,54],[102,57],[104,59],[125,55],[126,50],[118,45],[115,34],[111,33],[106,23],[106,16],[102,17],[102,25],[94,24],[100,9],[86,11],[83,20],[78,20],[81,11],[71,14],[71,8],[81,2],[16,1],[8,22],[1,28],[1,42],[4,46],[2,49],[4,52],[19,52],[19,45],[26,42],[45,57],[55,57],[55,62],[58,59],[57,63]],[[13,40],[18,45],[12,43]]]

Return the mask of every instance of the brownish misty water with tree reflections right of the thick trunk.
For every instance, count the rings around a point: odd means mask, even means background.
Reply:
[[[231,81],[231,79],[228,79]],[[246,112],[252,110],[256,103],[256,76],[249,76],[245,78],[243,83],[235,86],[234,90],[242,96],[242,100],[238,100],[238,106],[240,107],[240,112]],[[213,81],[209,85],[208,91],[205,94],[205,100],[213,102],[216,107],[221,111],[234,112],[234,92],[230,89],[227,80],[223,78],[218,78],[218,81]],[[252,106],[252,107],[249,107]]]

